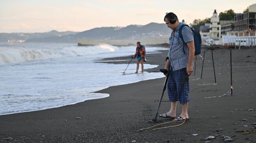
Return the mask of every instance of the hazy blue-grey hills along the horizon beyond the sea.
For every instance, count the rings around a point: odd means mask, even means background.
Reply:
[[[0,33],[0,41],[23,39],[25,42],[76,43],[78,39],[144,39],[169,37],[171,29],[166,24],[128,25],[126,27],[100,27],[83,32]]]

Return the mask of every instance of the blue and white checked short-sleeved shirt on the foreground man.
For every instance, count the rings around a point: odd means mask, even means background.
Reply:
[[[171,61],[171,66],[173,68],[173,71],[187,67],[188,59],[189,59],[189,49],[186,43],[194,40],[193,32],[188,26],[184,26],[182,29],[182,36],[184,37],[184,41],[180,38],[178,31],[181,25],[182,23],[178,25],[175,36],[174,36],[175,30],[173,30],[169,38],[170,50],[168,55]],[[184,46],[184,50],[183,50],[183,46]]]

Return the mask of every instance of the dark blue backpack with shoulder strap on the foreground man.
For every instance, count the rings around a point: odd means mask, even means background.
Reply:
[[[183,39],[183,36],[182,36],[182,28],[183,28],[184,26],[188,26],[188,25],[182,24],[182,25],[180,26],[180,29],[179,29],[179,36],[180,36],[180,38],[182,39],[183,42],[184,42],[184,39]],[[191,28],[191,30],[192,30],[192,32],[194,33],[195,55],[201,54],[201,47],[202,47],[202,38],[201,38],[201,35],[200,35],[200,33],[199,33],[198,30],[195,30],[195,29],[192,29],[192,28]],[[185,42],[184,42],[184,44],[185,44]],[[184,53],[185,53],[184,46],[183,46],[183,51],[184,51]]]

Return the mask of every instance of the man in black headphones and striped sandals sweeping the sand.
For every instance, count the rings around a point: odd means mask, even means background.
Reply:
[[[165,69],[171,70],[167,82],[168,97],[171,102],[171,109],[165,114],[160,114],[162,118],[182,121],[189,119],[187,107],[189,102],[189,81],[188,76],[193,72],[193,59],[195,45],[193,32],[188,26],[182,29],[182,23],[174,13],[166,13],[164,21],[167,27],[173,31],[169,38],[170,50],[166,58]],[[179,31],[182,30],[183,40],[180,38]],[[165,74],[167,75],[167,74]],[[185,79],[185,82],[182,83]],[[182,112],[176,116],[178,101],[182,104]]]

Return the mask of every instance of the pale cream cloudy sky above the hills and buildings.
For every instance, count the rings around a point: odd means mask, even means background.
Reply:
[[[192,23],[233,9],[243,13],[255,0],[0,0],[0,33],[82,32],[96,27],[164,23],[165,13]]]

